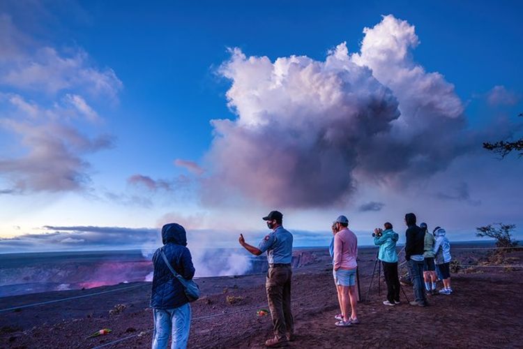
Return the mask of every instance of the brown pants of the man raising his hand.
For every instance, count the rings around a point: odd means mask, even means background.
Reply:
[[[287,332],[294,332],[291,312],[291,266],[269,267],[265,288],[268,307],[273,318],[274,335],[285,338]]]

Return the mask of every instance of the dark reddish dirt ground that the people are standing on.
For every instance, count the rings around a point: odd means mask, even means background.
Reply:
[[[361,293],[365,299],[374,266],[373,251],[360,253]],[[511,264],[522,264],[523,252],[511,253]],[[293,311],[296,341],[291,348],[523,348],[523,270],[478,269],[453,274],[453,295],[429,297],[430,306],[409,306],[402,295],[399,306],[384,306],[373,287],[369,302],[358,303],[361,324],[334,326],[339,313],[328,255],[318,253],[314,265],[296,269],[293,277]],[[206,296],[192,304],[190,348],[264,348],[271,337],[270,315],[257,317],[267,308],[264,276],[209,278],[199,281]],[[375,284],[375,283],[374,283]],[[137,284],[139,285],[139,284]],[[128,285],[116,285],[121,288]],[[99,292],[111,288],[88,290]],[[412,299],[411,287],[404,287]],[[60,292],[60,297],[80,291]],[[46,306],[0,313],[2,348],[93,348],[123,339],[105,348],[148,348],[152,313],[147,308],[149,285],[107,295],[76,299]],[[27,295],[17,304],[57,298],[56,292]],[[243,297],[234,304],[227,296]],[[32,298],[31,298],[32,297]],[[36,298],[38,297],[38,298]],[[14,299],[0,299],[5,308]],[[126,309],[116,315],[116,304]],[[37,317],[38,316],[38,317]],[[87,339],[108,327],[111,334]]]

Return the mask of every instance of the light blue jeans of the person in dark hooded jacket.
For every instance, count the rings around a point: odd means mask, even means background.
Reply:
[[[171,349],[187,348],[190,329],[190,305],[174,309],[153,309],[153,349],[167,348],[172,332]]]

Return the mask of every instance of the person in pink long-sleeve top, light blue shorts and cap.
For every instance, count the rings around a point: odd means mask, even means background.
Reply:
[[[334,236],[333,275],[338,290],[341,314],[335,318],[338,327],[357,324],[356,314],[356,258],[358,257],[358,238],[349,228],[349,220],[339,216],[335,221],[337,233]],[[349,308],[351,315],[349,316]]]

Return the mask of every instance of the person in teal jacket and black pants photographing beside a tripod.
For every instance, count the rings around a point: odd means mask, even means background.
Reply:
[[[385,282],[387,283],[387,300],[383,304],[395,306],[400,304],[400,279],[397,278],[396,251],[396,242],[400,239],[400,235],[394,232],[391,223],[385,223],[384,228],[381,236],[378,229],[374,230],[374,245],[379,246],[378,259],[381,260],[383,265]]]

